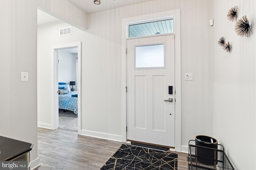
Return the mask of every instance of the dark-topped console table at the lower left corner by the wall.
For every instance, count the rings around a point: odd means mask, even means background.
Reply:
[[[33,144],[0,136],[0,160],[27,161],[30,169],[30,150]]]

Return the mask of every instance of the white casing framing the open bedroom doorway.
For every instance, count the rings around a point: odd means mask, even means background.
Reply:
[[[53,73],[53,87],[52,87],[52,94],[53,94],[53,107],[52,107],[52,129],[58,129],[59,126],[59,117],[58,117],[58,54],[57,51],[59,49],[68,49],[68,48],[77,48],[77,90],[78,90],[78,134],[81,134],[81,58],[82,58],[82,42],[74,42],[68,44],[60,44],[60,45],[52,45],[52,59],[54,65],[54,73]]]

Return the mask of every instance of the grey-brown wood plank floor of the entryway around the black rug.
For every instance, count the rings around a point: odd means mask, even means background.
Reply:
[[[78,135],[63,129],[38,128],[38,157],[41,166],[35,170],[99,170],[122,145]],[[178,170],[187,170],[188,154],[178,153]]]

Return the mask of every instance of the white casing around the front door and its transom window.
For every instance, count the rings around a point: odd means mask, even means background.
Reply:
[[[180,9],[170,10],[165,12],[159,12],[154,14],[147,14],[143,16],[136,16],[132,18],[122,19],[122,142],[126,142],[127,133],[127,97],[126,97],[126,85],[127,85],[127,67],[126,67],[126,36],[127,36],[127,24],[136,21],[150,20],[156,18],[174,17],[174,35],[175,35],[175,150],[181,151],[181,35],[180,35]],[[129,90],[129,87],[127,87]]]

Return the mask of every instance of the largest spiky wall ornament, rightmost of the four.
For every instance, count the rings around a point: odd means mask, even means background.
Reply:
[[[236,34],[241,37],[250,37],[250,33],[252,33],[252,30],[250,29],[251,23],[249,23],[246,16],[243,16],[239,20],[236,21],[235,25],[235,31]]]

